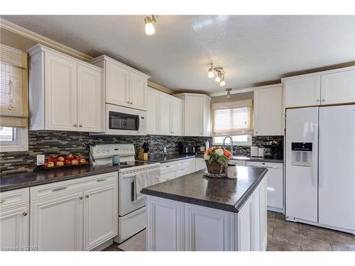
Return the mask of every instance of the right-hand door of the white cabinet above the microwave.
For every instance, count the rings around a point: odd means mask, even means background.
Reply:
[[[130,107],[147,109],[147,79],[136,73],[129,73],[129,101]]]

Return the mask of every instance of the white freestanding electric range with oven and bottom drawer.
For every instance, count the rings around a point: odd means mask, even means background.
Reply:
[[[133,144],[102,144],[90,147],[92,165],[110,166],[112,157],[119,155],[119,235],[114,238],[122,243],[146,228],[146,199],[135,200],[135,178],[138,172],[159,169],[159,162],[135,159]]]

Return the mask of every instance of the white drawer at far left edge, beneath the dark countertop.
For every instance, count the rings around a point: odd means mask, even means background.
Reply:
[[[13,206],[28,204],[29,189],[15,189],[9,192],[0,193],[0,209],[7,209]]]

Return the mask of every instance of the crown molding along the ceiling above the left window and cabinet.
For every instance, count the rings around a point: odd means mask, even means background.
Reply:
[[[21,26],[6,21],[4,18],[0,18],[0,28],[4,28],[6,31],[11,31],[30,40],[34,40],[41,45],[46,45],[60,52],[64,52],[67,55],[72,55],[73,57],[76,57],[80,60],[88,61],[92,60],[93,58],[84,54],[83,52],[79,52],[75,49],[67,47],[66,45],[62,45],[55,40],[50,40],[50,38],[44,37],[43,35],[39,35],[38,33],[34,33],[33,31],[29,31],[26,28],[22,28]]]

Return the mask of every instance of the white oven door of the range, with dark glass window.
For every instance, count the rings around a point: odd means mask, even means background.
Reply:
[[[136,187],[134,179],[136,173],[122,173],[119,176],[119,216],[124,216],[146,206],[146,198],[138,202],[134,201]]]

